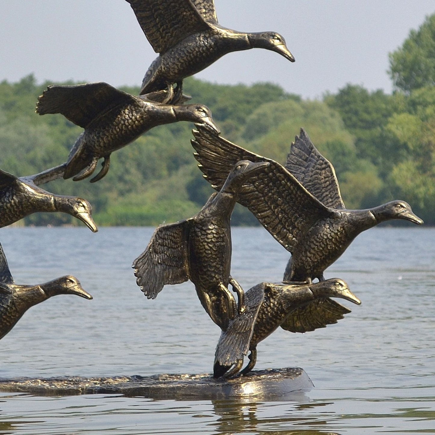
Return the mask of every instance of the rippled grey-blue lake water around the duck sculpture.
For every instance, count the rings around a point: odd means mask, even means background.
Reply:
[[[94,299],[31,308],[0,342],[0,377],[211,372],[220,335],[191,283],[147,300],[131,263],[153,228],[2,228],[15,281],[75,275]],[[288,253],[263,228],[233,229],[245,290],[280,281]],[[435,433],[435,229],[373,228],[325,272],[361,299],[336,325],[279,328],[256,369],[302,367],[315,388],[292,402],[157,401],[0,393],[0,434]]]

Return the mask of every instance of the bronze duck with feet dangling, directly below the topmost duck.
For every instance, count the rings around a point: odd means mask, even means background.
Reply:
[[[107,174],[113,151],[130,144],[152,127],[191,121],[219,131],[210,110],[203,105],[158,103],[127,94],[104,82],[49,86],[38,98],[36,111],[40,115],[60,113],[84,128],[71,148],[63,177],[75,176],[74,181],[89,177],[98,160],[104,157],[103,167],[91,183]]]

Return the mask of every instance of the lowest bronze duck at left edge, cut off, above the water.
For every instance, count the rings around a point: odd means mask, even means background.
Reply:
[[[71,275],[44,284],[15,284],[0,244],[0,338],[15,326],[30,307],[57,294],[76,294],[81,298],[92,299],[77,278]]]

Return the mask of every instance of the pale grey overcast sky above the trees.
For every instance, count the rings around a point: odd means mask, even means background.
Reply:
[[[388,53],[435,12],[434,0],[215,0],[221,25],[281,33],[291,63],[261,49],[227,54],[196,77],[271,81],[305,98],[347,83],[391,92]],[[140,85],[157,56],[124,0],[1,0],[0,81]]]

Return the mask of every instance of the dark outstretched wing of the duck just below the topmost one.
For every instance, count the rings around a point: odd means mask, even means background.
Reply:
[[[74,124],[86,128],[111,108],[135,100],[133,95],[104,82],[75,86],[50,85],[38,97],[36,112],[40,115],[60,113]]]

